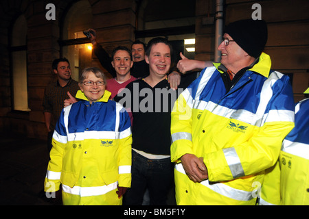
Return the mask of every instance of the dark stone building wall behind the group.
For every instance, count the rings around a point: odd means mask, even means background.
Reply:
[[[91,27],[98,33],[98,42],[111,53],[114,47],[130,47],[135,29],[143,30],[141,10],[148,0],[88,0],[91,5]],[[31,138],[47,136],[43,117],[45,86],[54,79],[52,61],[62,53],[60,41],[63,21],[76,0],[3,0],[0,2],[0,131],[14,131]],[[181,2],[181,1],[179,1]],[[216,15],[215,0],[196,0],[196,60],[214,60]],[[47,3],[56,6],[56,20],[45,17]],[[262,7],[262,18],[268,23],[266,53],[271,55],[273,68],[290,74],[295,101],[304,98],[309,81],[309,2],[308,0],[225,0],[224,23],[251,18],[254,3]],[[177,5],[162,5],[176,10]],[[147,12],[144,12],[147,13]],[[27,92],[30,112],[12,110],[12,62],[10,36],[16,18],[27,20]],[[138,16],[138,19],[137,19]],[[158,17],[160,16],[158,12]],[[184,14],[185,16],[185,14]],[[159,19],[159,18],[158,18]],[[139,23],[139,28],[135,26]],[[91,64],[99,66],[95,55]],[[102,66],[101,66],[102,67]]]

